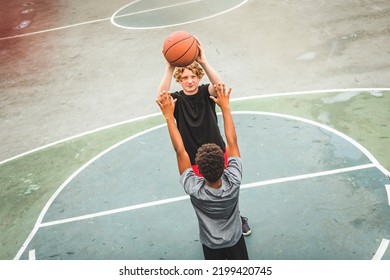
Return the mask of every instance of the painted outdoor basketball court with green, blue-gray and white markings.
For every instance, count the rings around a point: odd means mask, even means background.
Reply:
[[[233,88],[250,258],[390,259],[386,1],[49,2],[1,4],[1,259],[203,259],[154,102],[175,30]]]

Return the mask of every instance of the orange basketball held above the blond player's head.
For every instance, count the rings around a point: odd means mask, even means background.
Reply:
[[[173,32],[164,41],[163,54],[173,66],[187,66],[198,57],[198,41],[188,32]]]

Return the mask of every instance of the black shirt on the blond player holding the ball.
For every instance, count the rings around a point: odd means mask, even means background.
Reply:
[[[216,105],[209,97],[208,87],[208,84],[200,85],[194,95],[186,95],[182,90],[172,93],[172,97],[177,99],[174,112],[176,124],[191,164],[195,164],[196,152],[203,144],[215,143],[225,152]]]

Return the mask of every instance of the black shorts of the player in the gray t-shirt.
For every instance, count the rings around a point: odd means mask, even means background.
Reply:
[[[205,260],[249,260],[243,235],[241,235],[241,238],[236,245],[232,247],[210,249],[205,245],[202,246]]]

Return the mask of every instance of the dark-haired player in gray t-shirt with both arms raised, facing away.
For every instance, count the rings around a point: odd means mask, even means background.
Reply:
[[[177,129],[174,109],[176,100],[162,92],[156,100],[169,131],[176,152],[180,182],[191,198],[199,224],[200,242],[206,260],[249,259],[242,234],[238,209],[242,164],[237,135],[229,107],[231,89],[215,86],[217,96],[210,98],[221,108],[227,141],[228,167],[222,149],[214,144],[202,145],[196,155],[196,164],[202,177],[196,176]]]

